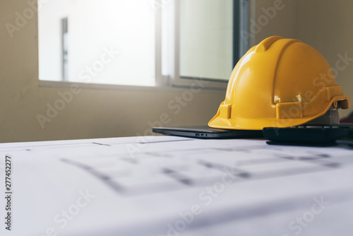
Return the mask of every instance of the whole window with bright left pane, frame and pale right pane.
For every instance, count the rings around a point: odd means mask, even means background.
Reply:
[[[40,80],[155,86],[201,78],[225,88],[246,2],[48,1],[38,13]]]

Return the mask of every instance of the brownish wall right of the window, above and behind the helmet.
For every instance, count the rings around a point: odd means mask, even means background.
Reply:
[[[273,7],[275,1],[253,0],[252,2],[256,3],[253,7],[256,9],[253,19],[258,19],[264,14],[262,8]],[[333,68],[336,68],[338,54],[345,56],[347,53],[347,56],[353,60],[353,31],[351,30],[353,1],[282,0],[282,5],[284,8],[277,11],[275,18],[269,20],[269,23],[256,34],[256,43],[261,42],[265,37],[280,35],[302,40],[315,47]],[[342,62],[340,66],[343,66]],[[345,94],[353,98],[353,63],[339,71],[337,83],[343,86]],[[340,116],[343,117],[352,110],[352,108],[340,110]]]

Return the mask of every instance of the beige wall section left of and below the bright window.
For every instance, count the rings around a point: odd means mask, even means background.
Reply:
[[[37,114],[47,112],[68,88],[40,88],[36,17],[9,37],[4,25],[14,23],[16,11],[28,8],[27,0],[2,1],[0,10],[0,142],[43,141],[71,138],[100,138],[143,135],[148,121],[170,115],[168,125],[207,124],[217,112],[225,91],[203,90],[182,107],[179,114],[167,105],[179,90],[82,89],[64,110],[46,123]]]

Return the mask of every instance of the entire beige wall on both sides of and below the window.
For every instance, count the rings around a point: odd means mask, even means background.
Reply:
[[[256,16],[273,0],[256,1]],[[353,2],[340,0],[283,0],[285,8],[265,25],[253,43],[270,35],[294,37],[316,47],[335,66],[337,54],[353,57]],[[83,88],[64,110],[42,129],[37,114],[47,103],[59,99],[68,88],[41,88],[38,81],[36,16],[11,39],[4,25],[14,23],[16,11],[28,8],[26,0],[2,1],[0,9],[0,142],[42,141],[70,138],[135,136],[148,129],[148,121],[160,114],[171,118],[168,125],[206,124],[215,114],[225,91],[203,90],[182,107],[179,114],[167,107],[179,90],[102,90]],[[341,71],[337,82],[353,98],[353,65]],[[347,112],[342,112],[347,114]]]

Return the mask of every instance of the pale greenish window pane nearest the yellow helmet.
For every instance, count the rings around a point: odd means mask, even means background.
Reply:
[[[233,0],[180,0],[180,76],[228,80]]]

